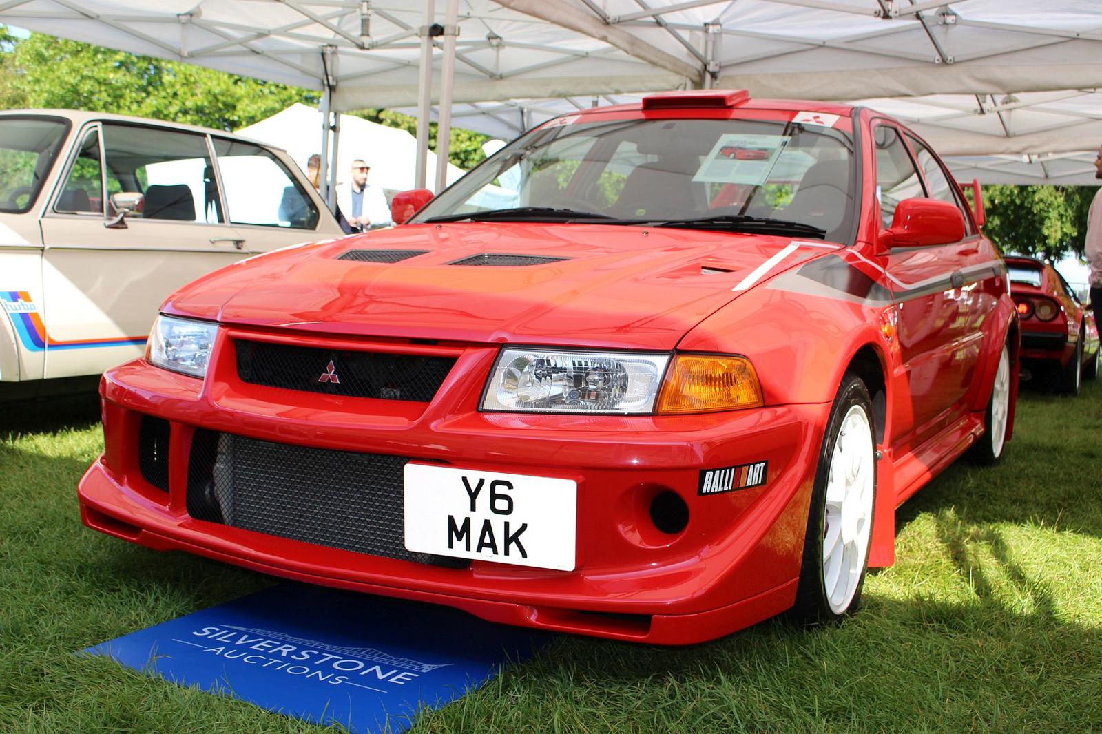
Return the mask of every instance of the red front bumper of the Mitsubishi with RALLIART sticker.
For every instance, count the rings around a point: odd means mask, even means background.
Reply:
[[[829,404],[695,417],[480,413],[496,347],[467,347],[430,403],[262,388],[213,367],[205,382],[136,360],[101,382],[105,453],[80,482],[90,528],[273,575],[456,606],[480,617],[655,644],[691,644],[788,608]],[[217,356],[215,358],[217,360]],[[390,403],[390,404],[383,404]],[[139,467],[142,415],[169,422],[166,492]],[[395,454],[577,482],[576,569],[395,560],[207,522],[187,512],[196,428],[284,444]],[[764,486],[698,495],[701,468],[768,462]],[[658,492],[689,506],[660,532]]]

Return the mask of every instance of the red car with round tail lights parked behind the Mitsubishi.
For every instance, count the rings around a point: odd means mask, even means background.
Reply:
[[[1099,375],[1094,314],[1050,265],[1035,258],[1004,258],[1022,322],[1022,363],[1030,371],[1055,369],[1056,389],[1079,395],[1082,378]]]

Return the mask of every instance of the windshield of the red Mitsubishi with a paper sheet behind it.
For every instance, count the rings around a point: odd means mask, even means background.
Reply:
[[[691,227],[722,218],[738,230],[755,217],[845,241],[852,163],[850,136],[819,126],[695,119],[552,125],[487,159],[414,222],[588,215],[607,224]]]

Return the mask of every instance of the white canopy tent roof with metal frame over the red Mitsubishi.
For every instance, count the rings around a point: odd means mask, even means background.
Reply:
[[[436,66],[444,129],[453,101],[585,104],[593,95],[721,86],[755,96],[875,98],[908,121],[926,109],[923,134],[939,150],[947,148],[934,129],[966,142],[971,154],[1044,160],[1042,171],[1057,172],[1066,159],[1050,156],[1072,152],[1056,142],[1088,149],[1102,137],[1098,100],[1076,102],[1102,88],[1099,0],[439,4],[443,18],[436,0],[0,0],[0,22],[322,89],[326,130],[331,112],[417,105],[425,122],[420,171]],[[530,125],[526,114],[514,118],[521,127]],[[1005,176],[1020,172],[1016,161],[983,165]]]

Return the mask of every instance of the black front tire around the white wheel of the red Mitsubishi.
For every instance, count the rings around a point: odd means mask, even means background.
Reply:
[[[851,409],[864,411],[869,429],[868,458],[871,460],[872,489],[868,500],[867,530],[868,538],[864,541],[863,558],[860,560],[860,574],[849,603],[839,608],[832,605],[823,558],[827,530],[828,507],[827,489],[831,471],[831,460],[834,456],[841,431]],[[836,622],[852,614],[861,604],[861,590],[865,583],[868,570],[868,548],[872,544],[873,510],[876,507],[876,431],[873,419],[873,399],[868,395],[865,382],[851,373],[842,378],[842,385],[834,397],[830,420],[823,435],[822,447],[819,451],[819,463],[815,469],[815,481],[811,490],[811,507],[808,511],[808,528],[803,538],[803,560],[800,565],[800,580],[796,591],[796,604],[792,616],[804,623]],[[863,442],[862,442],[863,443]],[[863,450],[863,447],[862,447]],[[862,526],[864,527],[864,526]],[[839,537],[839,542],[843,537]],[[855,542],[856,546],[856,542]],[[844,601],[844,595],[843,595]]]

